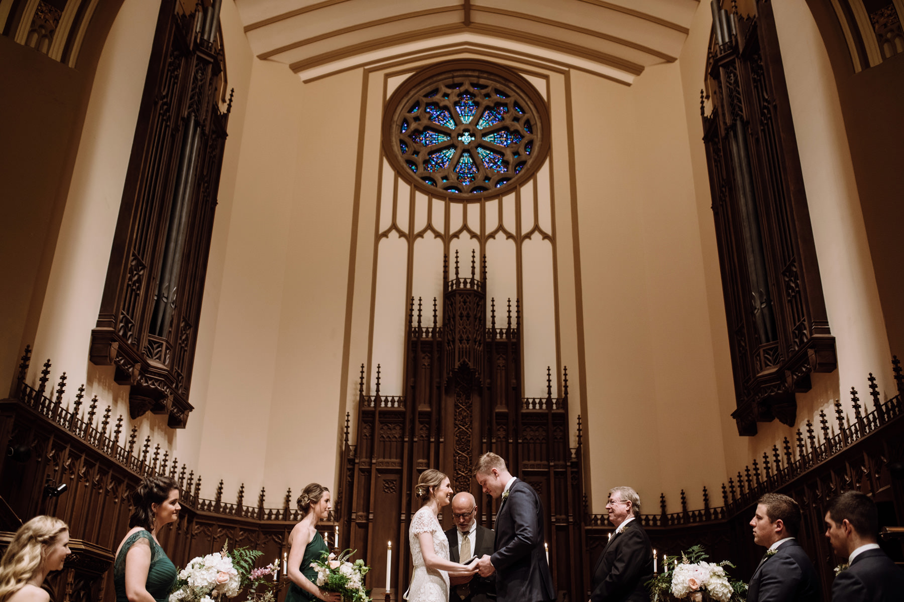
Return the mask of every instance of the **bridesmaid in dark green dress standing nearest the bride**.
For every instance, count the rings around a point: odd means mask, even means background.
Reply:
[[[311,568],[311,562],[320,560],[321,552],[327,550],[323,536],[317,533],[317,523],[330,514],[330,490],[316,483],[306,486],[298,495],[298,510],[305,517],[288,536],[290,547],[286,570],[292,583],[286,593],[286,602],[310,602],[314,599],[341,602],[339,593],[317,587],[317,575]]]

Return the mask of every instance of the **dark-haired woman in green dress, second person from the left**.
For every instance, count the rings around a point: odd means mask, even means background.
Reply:
[[[160,527],[179,518],[179,484],[163,475],[146,477],[132,494],[129,530],[113,564],[117,602],[165,602],[176,577],[157,541]]]

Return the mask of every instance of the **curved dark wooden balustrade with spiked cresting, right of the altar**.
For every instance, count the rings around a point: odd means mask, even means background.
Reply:
[[[682,512],[669,513],[665,495],[660,495],[661,512],[640,517],[660,558],[702,543],[711,558],[738,565],[732,571],[735,577],[749,579],[762,554],[748,526],[757,500],[768,492],[784,493],[793,497],[804,513],[804,529],[798,539],[814,560],[823,580],[824,599],[829,600],[833,567],[843,560],[833,558],[824,537],[828,500],[857,489],[876,501],[881,526],[904,524],[904,377],[897,357],[892,365],[898,394],[882,401],[876,379],[870,375],[871,412],[864,413],[858,393],[852,389],[853,416],[845,415],[837,400],[833,421],[821,410],[818,432],[812,421],[806,421],[803,430],[797,429],[795,443],[785,438],[782,449],[774,445],[771,454],[764,452],[762,458],[739,470],[737,479],[731,477],[728,484],[723,483],[722,505],[710,507],[710,494],[704,487],[704,508],[689,511],[682,490]],[[587,514],[584,525],[589,558],[595,561],[613,527],[606,514]],[[904,561],[899,539],[890,537],[883,548],[894,560]]]

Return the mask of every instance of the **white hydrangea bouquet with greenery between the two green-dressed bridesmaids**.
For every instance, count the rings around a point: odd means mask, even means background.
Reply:
[[[215,597],[233,597],[249,586],[272,585],[272,575],[278,568],[278,560],[258,569],[254,561],[261,552],[248,548],[229,551],[228,541],[222,551],[193,558],[179,571],[170,593],[169,602],[213,602]],[[269,594],[269,596],[267,595]],[[254,594],[260,602],[272,599],[271,592]]]

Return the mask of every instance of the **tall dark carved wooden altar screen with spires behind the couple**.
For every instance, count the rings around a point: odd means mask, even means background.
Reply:
[[[391,584],[395,593],[408,588],[411,576],[408,527],[419,509],[413,496],[419,474],[427,468],[445,472],[456,492],[475,495],[478,523],[493,526],[497,504],[484,495],[471,475],[477,457],[494,451],[506,459],[513,475],[540,495],[553,579],[560,599],[584,597],[583,531],[580,527],[583,477],[578,447],[569,445],[568,376],[561,397],[552,396],[548,374],[545,398],[521,396],[521,338],[518,302],[504,319],[490,301],[487,325],[486,268],[470,277],[450,277],[443,268],[443,317],[432,324],[414,300],[406,333],[406,391],[400,396],[364,394],[362,366],[356,439],[346,427],[344,478],[340,482],[337,520],[344,547],[363,552],[370,561],[371,585],[386,582],[386,546],[392,542]],[[579,429],[579,424],[578,424]],[[453,526],[449,506],[440,515]],[[376,593],[376,592],[375,592]]]

